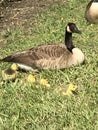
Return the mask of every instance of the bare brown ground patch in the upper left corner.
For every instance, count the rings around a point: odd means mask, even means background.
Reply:
[[[7,0],[5,0],[7,1]],[[25,21],[37,17],[54,3],[61,4],[61,0],[8,0],[0,7],[0,32],[12,27],[23,25]]]

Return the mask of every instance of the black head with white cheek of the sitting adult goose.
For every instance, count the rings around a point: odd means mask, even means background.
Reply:
[[[81,31],[77,28],[75,23],[68,23],[66,27],[66,31],[69,33],[79,33],[81,34]]]

